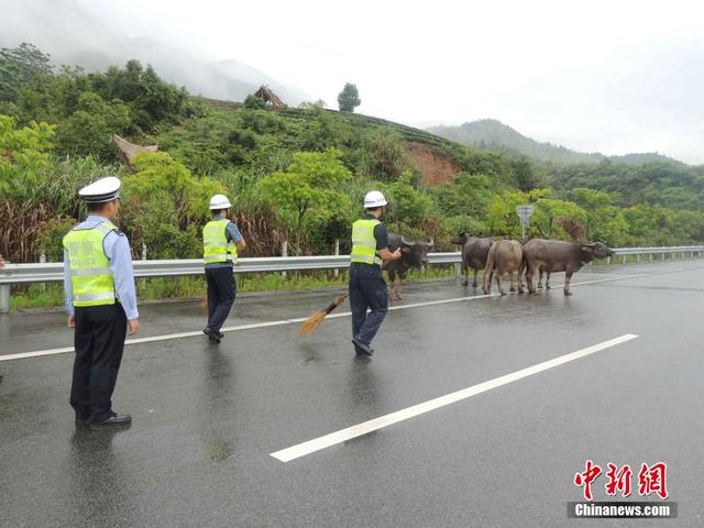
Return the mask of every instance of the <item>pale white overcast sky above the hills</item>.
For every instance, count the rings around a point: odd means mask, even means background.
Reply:
[[[580,151],[704,163],[701,2],[75,1],[332,108],[349,80],[358,111],[408,124],[495,118]]]

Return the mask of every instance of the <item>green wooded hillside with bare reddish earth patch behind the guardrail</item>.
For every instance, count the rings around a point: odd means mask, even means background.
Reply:
[[[125,163],[112,134],[158,152]],[[612,246],[704,242],[704,166],[610,160],[542,163],[427,131],[307,103],[273,108],[195,97],[130,61],[106,72],[58,68],[31,45],[0,50],[0,253],[61,258],[86,213],[76,190],[123,180],[120,228],[151,258],[197,257],[208,199],[234,204],[248,255],[349,251],[364,194],[384,191],[389,230],[517,238],[516,206],[535,206],[531,237],[565,238],[560,220]]]

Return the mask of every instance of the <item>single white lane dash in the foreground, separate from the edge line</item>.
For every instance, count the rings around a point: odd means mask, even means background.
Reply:
[[[538,374],[549,369],[554,369],[556,366],[560,366],[586,355],[594,354],[610,346],[625,343],[627,341],[630,341],[631,339],[636,339],[637,337],[638,336],[632,333],[626,333],[624,336],[620,336],[619,338],[614,338],[608,341],[587,346],[585,349],[570,352],[569,354],[543,361],[542,363],[521,369],[520,371],[495,377],[494,380],[490,380],[488,382],[472,385],[471,387],[446,394],[444,396],[424,402],[422,404],[414,405],[411,407],[407,407],[388,415],[380,416],[378,418],[374,418],[373,420],[358,424],[356,426],[348,427],[346,429],[341,429],[339,431],[331,432],[330,435],[326,435],[307,442],[298,443],[290,448],[282,449],[280,451],[275,451],[270,454],[275,459],[280,460],[282,462],[289,462],[292,460],[299,459],[300,457],[315,453],[316,451],[320,451],[338,443],[345,442],[353,438],[367,435],[372,431],[376,431],[393,424],[398,424],[399,421],[415,418],[416,416],[439,409],[440,407],[444,407],[457,402],[461,402],[472,396],[476,396],[477,394],[485,393],[486,391],[491,391],[493,388],[517,382],[518,380],[522,380],[524,377],[532,376],[534,374]]]

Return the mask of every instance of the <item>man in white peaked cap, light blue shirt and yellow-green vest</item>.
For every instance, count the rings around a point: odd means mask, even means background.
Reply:
[[[88,218],[64,237],[64,294],[76,349],[70,405],[76,424],[90,429],[132,422],[111,402],[125,333],[140,328],[130,243],[112,223],[120,185],[110,176],[80,189]]]

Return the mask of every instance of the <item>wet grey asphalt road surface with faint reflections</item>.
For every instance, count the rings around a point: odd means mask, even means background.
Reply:
[[[113,402],[134,424],[114,432],[74,425],[70,353],[0,361],[0,526],[704,526],[704,261],[594,267],[573,284],[610,278],[570,298],[392,311],[371,361],[354,356],[349,317],[306,339],[280,324],[219,346],[132,344]],[[396,306],[472,294],[410,284]],[[304,317],[332,295],[242,297],[227,324]],[[141,337],[202,327],[197,302],[142,316]],[[0,317],[0,359],[70,345],[64,323]],[[290,462],[270,454],[626,333],[639,338]],[[679,518],[566,519],[586,459],[667,462]]]

